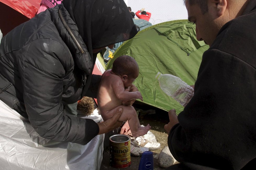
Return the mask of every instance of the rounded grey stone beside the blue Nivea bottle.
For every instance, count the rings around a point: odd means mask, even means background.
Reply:
[[[176,162],[174,157],[172,156],[169,147],[164,147],[158,156],[158,165],[162,168],[167,168],[173,165]]]

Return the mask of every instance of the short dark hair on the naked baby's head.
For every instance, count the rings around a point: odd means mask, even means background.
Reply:
[[[137,69],[139,69],[139,66],[134,58],[131,56],[120,56],[113,62],[112,71],[117,75],[133,76]]]

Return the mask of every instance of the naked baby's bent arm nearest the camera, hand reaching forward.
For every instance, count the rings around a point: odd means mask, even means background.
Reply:
[[[125,90],[123,82],[117,81],[112,83],[112,88],[114,89],[114,92],[119,100],[128,101],[132,99],[142,99],[142,95],[139,91],[137,92],[129,92]]]

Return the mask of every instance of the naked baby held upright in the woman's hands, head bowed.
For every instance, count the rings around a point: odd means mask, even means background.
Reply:
[[[132,83],[139,75],[139,67],[134,58],[130,56],[120,56],[113,62],[113,68],[106,70],[99,84],[97,101],[103,120],[113,116],[111,110],[123,108],[123,113],[118,121],[128,120],[133,137],[147,134],[151,126],[141,126],[137,113],[132,106],[123,106],[123,101],[132,99],[142,99],[140,92],[129,92],[134,86]]]

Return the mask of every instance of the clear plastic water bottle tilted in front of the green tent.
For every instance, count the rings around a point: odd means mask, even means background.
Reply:
[[[155,78],[158,79],[160,88],[184,107],[194,95],[194,89],[179,77],[158,72]]]

